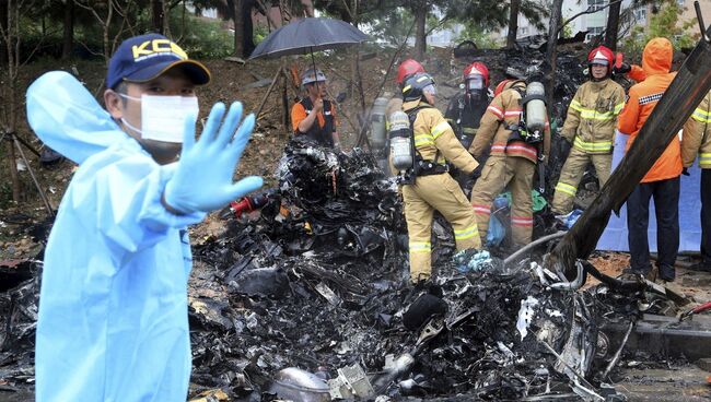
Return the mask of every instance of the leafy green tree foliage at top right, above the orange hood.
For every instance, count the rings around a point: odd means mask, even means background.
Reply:
[[[676,1],[665,0],[655,14],[652,14],[650,24],[646,29],[644,26],[637,25],[629,36],[622,40],[622,50],[630,55],[641,55],[650,39],[655,37],[666,37],[675,49],[690,48],[696,45],[696,35],[689,33],[689,27],[696,24],[696,20],[679,21],[678,17],[684,11]]]

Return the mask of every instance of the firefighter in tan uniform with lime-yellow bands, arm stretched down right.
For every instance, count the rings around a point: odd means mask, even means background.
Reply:
[[[416,73],[403,85],[403,111],[411,121],[415,149],[413,182],[403,186],[412,283],[427,280],[432,273],[430,239],[434,210],[452,224],[457,250],[481,248],[474,212],[459,185],[447,173],[447,161],[469,174],[478,163],[434,108],[435,94],[434,81],[427,73]]]

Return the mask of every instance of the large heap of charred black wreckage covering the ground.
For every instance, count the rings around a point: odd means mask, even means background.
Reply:
[[[292,141],[278,175],[260,213],[195,250],[228,289],[191,300],[195,383],[245,400],[622,398],[601,328],[633,322],[646,292],[576,292],[583,261],[573,282],[540,260],[468,270],[439,223],[436,279],[412,288],[397,188],[370,154]]]

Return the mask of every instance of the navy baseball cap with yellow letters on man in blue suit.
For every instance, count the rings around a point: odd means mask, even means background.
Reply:
[[[189,60],[176,43],[159,34],[128,38],[108,61],[106,87],[116,88],[123,81],[145,82],[179,66],[196,85],[210,82],[210,71],[202,63]]]

